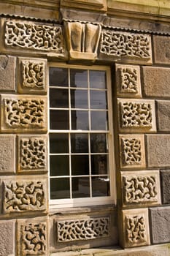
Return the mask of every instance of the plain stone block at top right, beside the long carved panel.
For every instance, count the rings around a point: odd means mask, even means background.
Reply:
[[[155,63],[170,64],[170,41],[166,36],[154,36],[154,57]]]

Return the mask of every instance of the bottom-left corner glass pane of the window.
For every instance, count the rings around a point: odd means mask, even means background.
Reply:
[[[70,198],[69,178],[50,179],[50,198]]]

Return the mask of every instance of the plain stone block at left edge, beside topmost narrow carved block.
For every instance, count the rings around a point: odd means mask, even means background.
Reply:
[[[0,91],[15,91],[16,58],[0,55]]]

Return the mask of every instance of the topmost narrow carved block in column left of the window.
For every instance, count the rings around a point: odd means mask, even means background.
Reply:
[[[18,91],[20,93],[47,92],[47,61],[45,59],[19,59]]]

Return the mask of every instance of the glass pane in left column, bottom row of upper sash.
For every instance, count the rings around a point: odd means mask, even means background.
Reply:
[[[50,129],[69,129],[69,110],[50,110]]]

